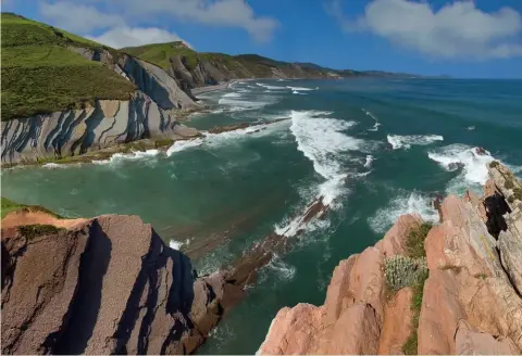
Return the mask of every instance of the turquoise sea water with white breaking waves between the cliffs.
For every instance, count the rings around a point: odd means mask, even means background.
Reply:
[[[259,85],[258,85],[259,84]],[[187,252],[199,274],[293,226],[315,196],[325,220],[261,272],[199,353],[251,354],[283,306],[322,304],[340,259],[402,213],[435,219],[434,193],[480,191],[485,164],[522,170],[522,81],[352,79],[235,84],[187,125],[288,120],[210,135],[103,164],[2,171],[2,195],[66,216],[138,214]],[[291,88],[287,88],[293,87]],[[299,89],[300,88],[300,89]],[[313,90],[304,90],[313,89]],[[489,154],[474,154],[475,147]],[[291,231],[291,229],[290,229]]]

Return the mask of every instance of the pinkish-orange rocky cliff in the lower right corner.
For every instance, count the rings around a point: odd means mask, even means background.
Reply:
[[[440,223],[401,216],[341,260],[322,306],[281,309],[259,354],[520,354],[522,185],[498,162]]]

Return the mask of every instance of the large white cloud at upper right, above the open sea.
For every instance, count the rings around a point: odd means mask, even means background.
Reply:
[[[484,60],[522,55],[521,15],[510,8],[486,13],[472,1],[455,1],[435,11],[427,2],[374,0],[362,16],[348,20],[339,0],[334,0],[327,12],[346,31],[370,31],[431,56]]]

